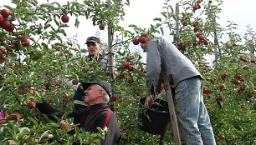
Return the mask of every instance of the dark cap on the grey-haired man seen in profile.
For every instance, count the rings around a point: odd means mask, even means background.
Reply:
[[[107,92],[109,97],[111,97],[110,82],[106,82],[104,80],[96,80],[96,81],[92,81],[92,82],[82,82],[82,87],[84,88],[84,90],[86,90],[92,84],[97,84],[97,85],[100,85],[101,87],[103,87],[105,89],[105,92]]]

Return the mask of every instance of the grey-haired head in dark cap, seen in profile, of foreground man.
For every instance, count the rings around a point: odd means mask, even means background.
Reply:
[[[110,82],[104,80],[97,80],[93,82],[82,82],[85,99],[84,102],[94,105],[102,102],[109,102],[111,96]]]

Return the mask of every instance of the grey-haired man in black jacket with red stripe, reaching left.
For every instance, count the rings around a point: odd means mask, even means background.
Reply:
[[[100,144],[120,144],[120,128],[115,113],[107,105],[111,96],[110,83],[97,80],[82,82],[81,86],[85,95],[84,102],[88,104],[88,107],[73,111],[74,118],[79,122],[79,128],[84,128],[90,133],[98,133],[98,127],[107,127],[108,132],[105,134],[105,138],[100,140]],[[48,102],[44,102],[37,107],[40,112],[44,112],[44,108],[49,106]],[[61,121],[61,128],[65,129],[67,126],[69,126],[67,122]]]

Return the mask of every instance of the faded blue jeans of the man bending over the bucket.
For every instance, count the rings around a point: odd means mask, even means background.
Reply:
[[[216,145],[202,88],[203,80],[200,77],[188,78],[175,87],[177,118],[187,145]]]

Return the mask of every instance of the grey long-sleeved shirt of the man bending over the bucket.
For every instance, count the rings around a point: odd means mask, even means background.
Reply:
[[[178,82],[186,78],[201,76],[192,62],[177,47],[164,39],[148,42],[146,63],[147,69],[156,68],[158,71],[163,71],[162,69],[166,68],[171,87],[175,87]],[[151,72],[151,70],[147,71]],[[148,76],[150,78],[155,76],[151,75],[151,73],[147,75],[150,75]]]

